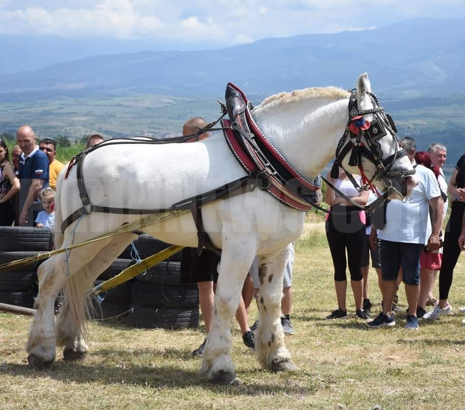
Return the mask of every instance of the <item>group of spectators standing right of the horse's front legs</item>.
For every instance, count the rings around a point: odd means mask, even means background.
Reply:
[[[465,242],[465,155],[458,160],[448,185],[442,171],[447,158],[446,147],[435,143],[428,152],[417,152],[411,137],[402,138],[402,146],[416,169],[418,185],[407,201],[389,201],[379,208],[376,218],[347,200],[350,198],[358,205],[367,206],[376,199],[375,195],[354,188],[342,169],[337,178],[332,178],[331,173],[327,176],[338,191],[328,187],[326,193],[326,202],[331,207],[326,235],[334,264],[338,304],[327,319],[348,317],[347,266],[355,315],[367,320],[369,327],[395,325],[393,312],[399,310],[396,303],[401,282],[408,303],[407,329],[417,330],[419,318],[434,320],[452,313],[447,299],[453,270]],[[443,234],[441,227],[449,201],[451,217]],[[374,220],[370,220],[370,216]],[[370,253],[382,295],[382,311],[376,318],[371,317],[373,303],[369,298]],[[437,272],[439,300],[433,297]],[[429,312],[427,306],[432,306]],[[465,313],[465,309],[460,310]]]

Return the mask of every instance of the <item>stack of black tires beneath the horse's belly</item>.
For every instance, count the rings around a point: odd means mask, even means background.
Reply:
[[[141,259],[170,245],[140,235],[137,250]],[[198,327],[196,284],[181,280],[180,252],[136,277],[132,285],[129,324],[136,327],[186,329]]]

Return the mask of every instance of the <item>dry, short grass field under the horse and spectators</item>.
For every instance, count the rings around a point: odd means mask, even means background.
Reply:
[[[0,314],[0,408],[47,409],[463,409],[465,326],[457,313],[465,304],[465,263],[455,270],[451,316],[420,321],[417,332],[397,325],[372,330],[354,317],[327,321],[336,308],[332,262],[321,215],[309,215],[296,242],[294,265],[295,334],[286,345],[300,370],[262,371],[242,344],[233,322],[233,353],[242,385],[211,385],[197,375],[190,356],[204,338],[203,326],[184,331],[137,330],[122,322],[93,322],[90,354],[83,363],[65,363],[61,352],[52,370],[31,370],[24,344],[31,319]],[[371,299],[381,300],[370,271]],[[399,291],[399,306],[406,298]],[[436,291],[437,297],[437,291]],[[256,319],[252,309],[250,323]]]

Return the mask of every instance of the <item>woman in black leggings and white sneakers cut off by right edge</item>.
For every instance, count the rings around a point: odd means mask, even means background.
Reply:
[[[444,235],[444,248],[442,251],[442,265],[439,272],[439,304],[429,314],[428,319],[438,319],[452,313],[452,306],[448,302],[449,290],[452,285],[452,276],[455,264],[460,256],[458,237],[462,232],[463,211],[465,210],[465,155],[458,160],[448,191],[452,195],[451,216]]]

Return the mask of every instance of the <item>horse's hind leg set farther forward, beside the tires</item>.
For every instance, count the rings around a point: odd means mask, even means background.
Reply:
[[[92,309],[88,292],[95,278],[107,269],[127,245],[136,238],[134,234],[119,235],[111,239],[98,254],[80,271],[79,277],[70,278],[65,285],[63,308],[57,317],[57,345],[64,345],[63,358],[66,361],[82,359],[88,352],[84,337],[84,321]]]

